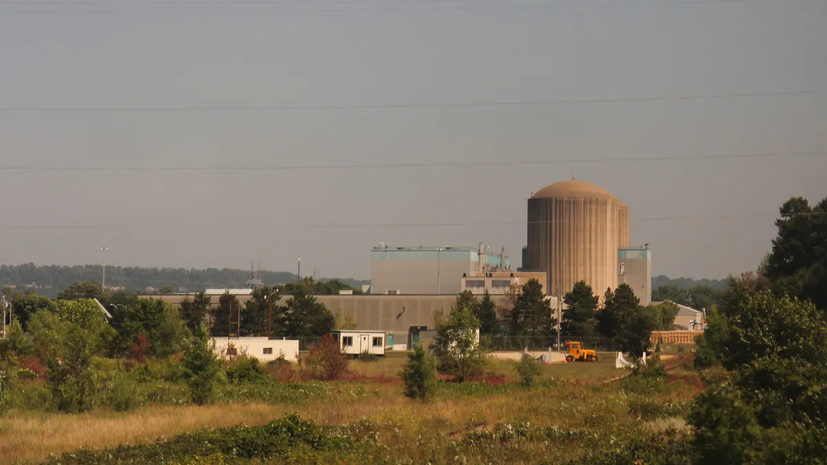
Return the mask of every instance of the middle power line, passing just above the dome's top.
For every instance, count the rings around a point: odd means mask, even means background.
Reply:
[[[572,163],[620,163],[639,161],[680,161],[680,160],[730,160],[743,158],[772,158],[785,156],[827,155],[827,151],[797,151],[748,153],[734,155],[691,155],[691,156],[633,156],[624,158],[592,158],[571,160],[530,160],[530,161],[437,161],[424,163],[360,164],[360,165],[251,165],[251,166],[35,166],[0,165],[5,171],[289,171],[289,170],[388,170],[409,168],[452,168],[472,166],[507,165],[559,165]]]

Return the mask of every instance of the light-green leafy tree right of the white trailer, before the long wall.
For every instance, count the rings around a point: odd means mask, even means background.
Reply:
[[[472,372],[485,365],[487,353],[480,346],[480,320],[468,307],[454,307],[445,317],[437,313],[437,338],[433,353],[437,370],[457,376],[463,382]]]

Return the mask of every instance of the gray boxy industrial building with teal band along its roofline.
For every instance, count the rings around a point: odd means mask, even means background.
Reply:
[[[471,247],[394,247],[370,251],[370,294],[457,295],[463,276],[510,269],[501,249],[492,254]]]

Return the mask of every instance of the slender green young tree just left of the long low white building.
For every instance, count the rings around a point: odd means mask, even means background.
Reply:
[[[221,373],[221,362],[216,356],[215,344],[210,342],[203,324],[195,328],[189,350],[181,359],[181,367],[184,368],[193,402],[198,405],[212,402],[215,384]]]

